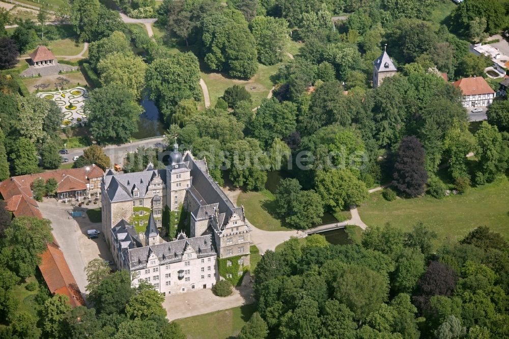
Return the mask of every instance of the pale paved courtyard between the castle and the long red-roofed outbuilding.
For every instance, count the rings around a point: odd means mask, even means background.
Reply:
[[[97,207],[97,206],[94,206]],[[101,223],[91,222],[86,207],[70,206],[53,199],[39,203],[42,216],[51,220],[53,236],[64,252],[64,257],[82,293],[86,292],[87,276],[84,267],[95,258],[112,260],[111,253],[101,233],[97,239],[89,239],[87,230],[101,231]],[[83,216],[72,218],[71,212],[83,211]]]

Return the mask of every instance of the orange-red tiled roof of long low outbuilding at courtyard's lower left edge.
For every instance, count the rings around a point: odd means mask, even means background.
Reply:
[[[67,265],[64,253],[53,243],[47,243],[46,247],[47,250],[41,255],[39,269],[49,291],[53,294],[67,295],[69,304],[73,307],[84,306],[85,302]]]

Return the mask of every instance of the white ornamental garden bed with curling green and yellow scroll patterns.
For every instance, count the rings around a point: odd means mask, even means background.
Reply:
[[[46,100],[53,100],[62,109],[64,112],[62,127],[83,125],[87,122],[83,105],[89,97],[89,92],[85,88],[75,87],[69,90],[40,92],[37,93],[37,96]]]

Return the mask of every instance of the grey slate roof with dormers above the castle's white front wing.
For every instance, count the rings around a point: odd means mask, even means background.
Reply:
[[[129,268],[131,270],[138,270],[146,267],[151,253],[157,256],[160,265],[180,262],[182,261],[182,255],[186,246],[191,246],[198,258],[217,256],[213,237],[209,234],[201,237],[184,238],[152,246],[128,249]]]

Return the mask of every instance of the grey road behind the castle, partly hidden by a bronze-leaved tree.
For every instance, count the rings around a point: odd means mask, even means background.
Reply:
[[[164,142],[164,136],[157,137],[154,139],[149,140],[141,140],[138,142],[128,143],[128,144],[122,144],[122,145],[108,145],[103,148],[104,153],[109,157],[111,160],[111,164],[124,164],[124,159],[129,152],[136,151],[136,148],[139,146],[144,146],[145,148],[149,147],[157,147],[159,149],[164,149],[166,147],[166,144]],[[69,154],[62,154],[61,156],[63,158],[69,159],[69,163],[73,163],[74,161],[72,158],[74,156],[80,156],[83,155],[83,148],[73,148],[69,149]]]

